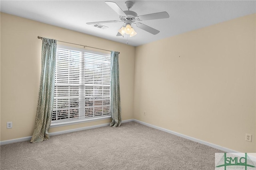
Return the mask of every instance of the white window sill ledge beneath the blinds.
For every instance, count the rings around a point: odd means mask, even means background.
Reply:
[[[106,120],[106,119],[109,119],[110,117],[111,117],[111,115],[104,116],[104,117],[93,117],[93,118],[88,118],[88,119],[80,119],[80,120],[54,122],[54,123],[51,123],[50,128],[75,125],[75,124],[79,124],[79,123],[87,123],[87,122],[91,122],[91,121]]]

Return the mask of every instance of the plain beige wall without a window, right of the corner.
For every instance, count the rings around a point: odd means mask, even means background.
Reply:
[[[134,118],[256,152],[255,20],[253,14],[136,47]]]

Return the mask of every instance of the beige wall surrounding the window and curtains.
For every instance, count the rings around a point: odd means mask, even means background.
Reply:
[[[33,133],[41,71],[42,41],[37,39],[38,35],[119,51],[122,120],[133,118],[135,47],[1,13],[1,141]],[[8,121],[12,121],[12,129],[6,129]],[[56,127],[50,132],[109,122]]]

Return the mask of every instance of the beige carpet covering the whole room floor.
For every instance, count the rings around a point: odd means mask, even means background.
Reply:
[[[2,145],[1,170],[214,170],[214,153],[200,143],[141,125],[100,127],[40,143]]]

